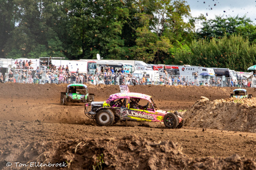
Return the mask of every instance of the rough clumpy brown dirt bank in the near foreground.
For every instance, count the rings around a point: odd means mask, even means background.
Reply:
[[[15,159],[15,157],[12,157]],[[9,156],[6,157],[9,159]],[[32,142],[16,158],[29,168],[58,169],[255,169],[256,160],[239,157],[189,158],[172,141],[122,138]],[[31,164],[32,162],[32,164]],[[7,163],[2,161],[1,164]],[[26,167],[21,164],[21,167]],[[27,168],[26,167],[26,168]],[[7,169],[7,167],[0,167]]]

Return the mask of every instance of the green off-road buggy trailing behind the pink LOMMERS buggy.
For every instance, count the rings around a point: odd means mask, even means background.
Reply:
[[[86,103],[94,101],[94,94],[88,93],[88,87],[84,84],[70,84],[66,92],[61,92],[61,105],[69,103]]]

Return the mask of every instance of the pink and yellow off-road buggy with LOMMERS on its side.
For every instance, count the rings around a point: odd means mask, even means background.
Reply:
[[[102,102],[85,104],[85,115],[98,126],[109,126],[119,121],[164,122],[168,128],[181,128],[183,117],[178,112],[156,110],[152,97],[136,92],[120,92]]]

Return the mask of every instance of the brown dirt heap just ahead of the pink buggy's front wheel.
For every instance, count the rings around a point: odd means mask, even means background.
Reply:
[[[200,100],[184,114],[185,126],[256,132],[256,98]]]

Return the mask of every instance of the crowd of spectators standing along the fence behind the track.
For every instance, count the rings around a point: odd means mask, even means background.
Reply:
[[[13,83],[34,83],[34,84],[61,84],[61,83],[90,83],[90,84],[106,84],[106,85],[171,85],[171,86],[238,86],[238,87],[251,87],[252,83],[248,79],[233,79],[227,78],[222,81],[221,77],[209,76],[204,81],[199,81],[200,76],[184,76],[184,75],[160,75],[158,81],[151,80],[149,75],[133,75],[127,69],[114,70],[109,66],[96,69],[94,73],[80,73],[77,71],[70,71],[68,65],[50,65],[42,62],[41,65],[45,69],[37,67],[34,69],[31,60],[16,60],[16,69],[10,69],[9,73],[0,75],[0,83],[13,82]]]

